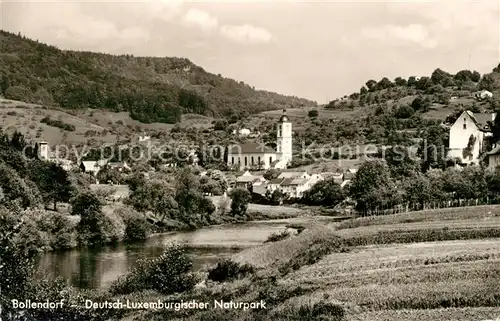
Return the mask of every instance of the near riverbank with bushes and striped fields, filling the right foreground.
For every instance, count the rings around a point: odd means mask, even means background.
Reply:
[[[75,292],[78,296],[68,300],[76,302],[83,296],[95,302],[209,304],[203,310],[100,310],[102,318],[92,320],[495,319],[500,306],[500,208],[409,214],[342,223],[311,217],[301,233],[235,253],[232,261],[215,269],[211,264],[203,273],[193,273],[189,256],[170,252],[168,259],[144,263],[109,291]],[[304,218],[287,223],[300,220]],[[258,222],[251,225],[255,229],[248,235],[261,229]],[[163,278],[162,271],[170,274]],[[155,280],[182,287],[157,287]],[[216,308],[214,301],[220,300],[262,301],[267,308]]]

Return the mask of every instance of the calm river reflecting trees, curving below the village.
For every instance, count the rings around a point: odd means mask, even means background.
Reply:
[[[288,223],[286,220],[259,221],[162,233],[141,243],[47,252],[41,255],[37,264],[41,277],[61,276],[81,289],[105,288],[134,268],[138,259],[158,257],[171,243],[187,245],[193,268],[199,270],[205,264],[216,263],[245,248],[262,244],[272,233],[285,230]]]

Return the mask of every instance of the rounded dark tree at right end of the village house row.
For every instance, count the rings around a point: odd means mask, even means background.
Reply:
[[[310,205],[336,206],[345,199],[343,189],[333,178],[319,181],[304,193],[303,201]]]

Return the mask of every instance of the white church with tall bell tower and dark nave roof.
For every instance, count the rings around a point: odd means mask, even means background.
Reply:
[[[277,124],[277,151],[263,143],[232,145],[228,149],[227,164],[241,169],[286,169],[292,160],[292,123],[283,110]]]

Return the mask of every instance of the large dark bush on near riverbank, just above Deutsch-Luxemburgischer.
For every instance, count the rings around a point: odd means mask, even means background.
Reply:
[[[156,290],[163,294],[184,292],[194,288],[196,277],[190,272],[193,263],[183,246],[172,245],[158,258],[138,261],[128,275],[113,282],[112,294],[129,294]]]

